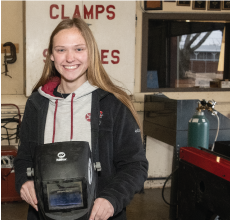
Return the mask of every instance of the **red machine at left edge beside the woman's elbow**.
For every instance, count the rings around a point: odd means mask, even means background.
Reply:
[[[16,155],[15,146],[1,146],[1,202],[22,200],[15,189],[13,160]]]

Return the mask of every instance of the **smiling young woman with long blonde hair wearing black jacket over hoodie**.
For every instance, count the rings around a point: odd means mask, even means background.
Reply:
[[[92,122],[99,118],[99,134]],[[98,144],[102,171],[90,220],[123,220],[125,207],[147,178],[137,113],[129,96],[105,72],[97,44],[80,18],[63,20],[50,37],[43,74],[29,97],[15,159],[16,189],[39,219],[33,166],[36,146],[62,141]]]

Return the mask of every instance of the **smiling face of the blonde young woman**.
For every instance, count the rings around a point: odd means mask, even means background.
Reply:
[[[54,36],[50,58],[62,80],[78,84],[87,81],[88,51],[85,39],[76,27],[61,30]]]

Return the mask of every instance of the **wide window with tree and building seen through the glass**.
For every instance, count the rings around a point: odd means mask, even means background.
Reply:
[[[147,16],[142,92],[230,90],[221,88],[230,78],[230,23]]]

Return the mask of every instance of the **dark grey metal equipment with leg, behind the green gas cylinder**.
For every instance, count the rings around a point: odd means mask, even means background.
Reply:
[[[200,100],[197,99],[170,99],[161,93],[145,96],[144,135],[167,143],[174,148],[172,164],[173,174],[171,175],[170,220],[176,220],[178,216],[178,184],[181,181],[178,172],[180,148],[188,146],[188,121],[194,114],[198,102],[200,102]],[[212,108],[211,106],[213,106],[213,104],[214,103],[207,103],[207,105],[210,105],[210,108]],[[213,149],[213,143],[215,141],[222,142],[229,141],[230,139],[230,119],[220,112],[216,112],[216,115],[219,118],[219,122],[210,112],[204,111],[204,116],[209,121],[208,146],[211,149]],[[218,137],[217,130],[219,130]]]

